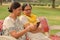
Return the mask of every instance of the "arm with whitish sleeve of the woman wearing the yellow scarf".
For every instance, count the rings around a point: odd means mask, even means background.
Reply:
[[[30,32],[35,31],[37,29],[36,25],[29,22],[28,18],[25,16],[20,17],[20,21],[23,23],[24,28],[30,26]]]

